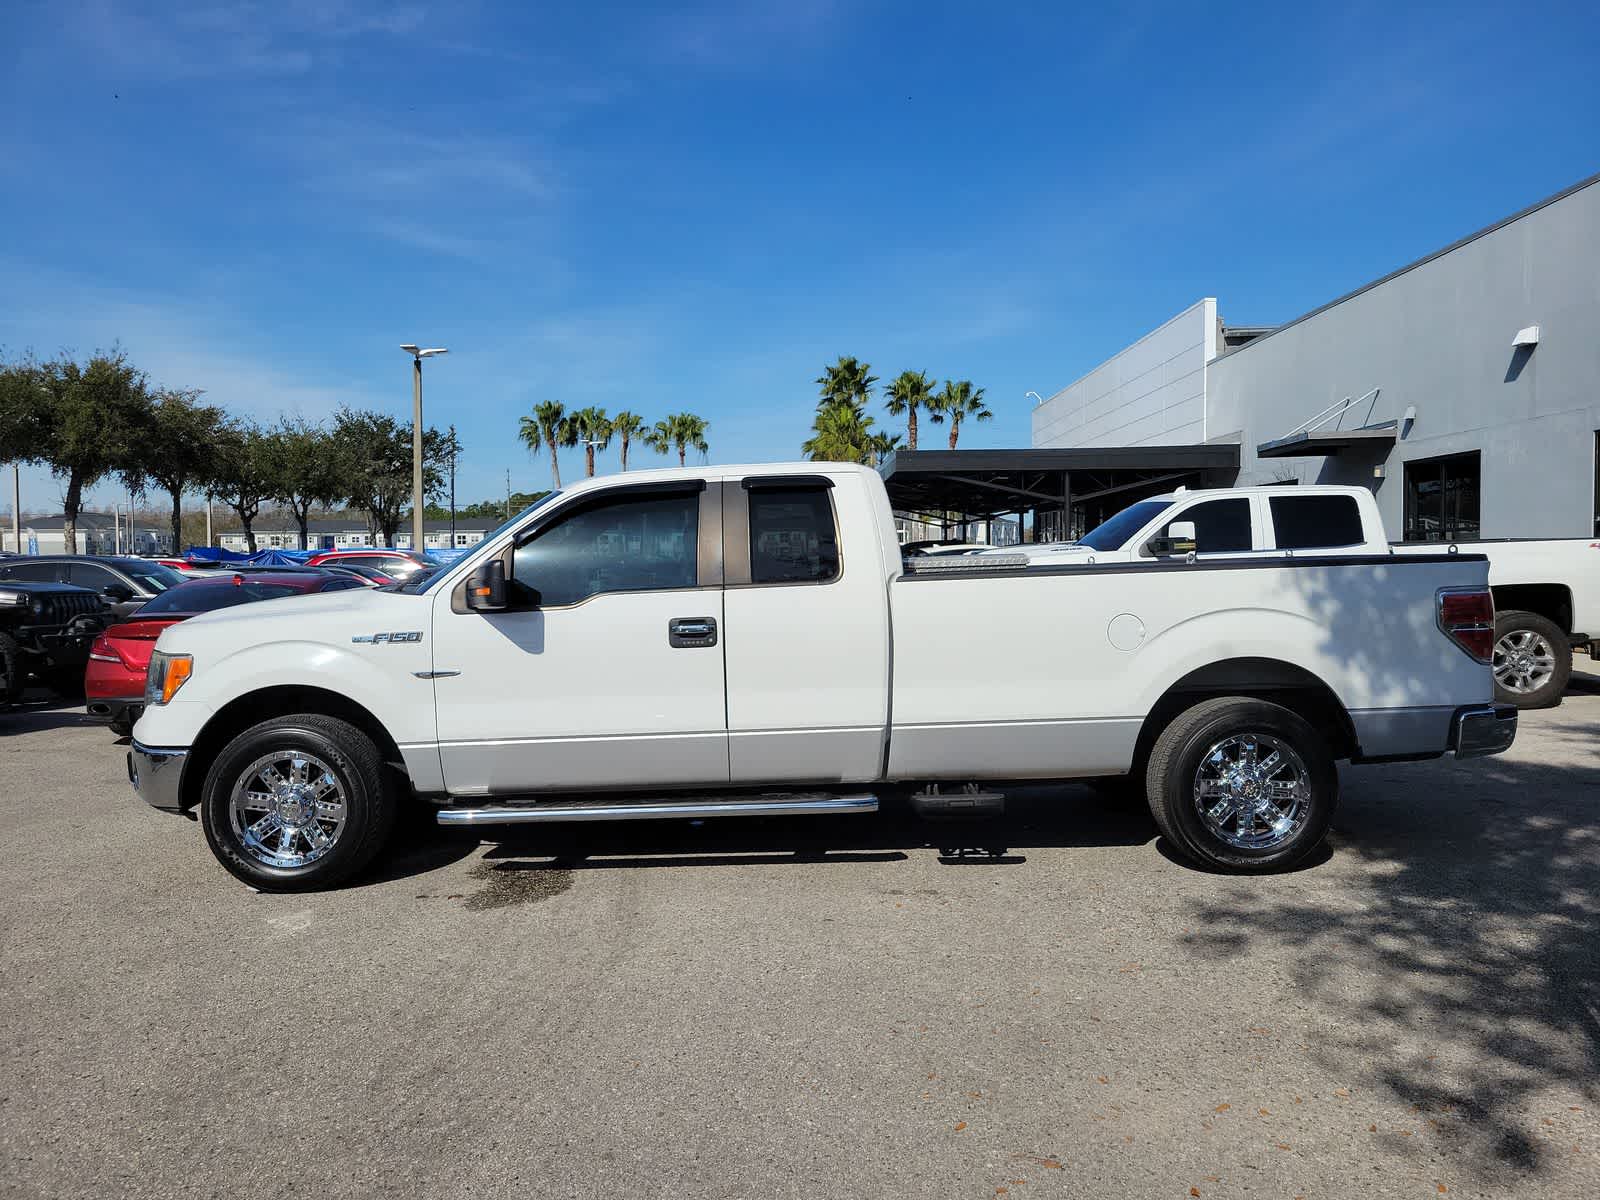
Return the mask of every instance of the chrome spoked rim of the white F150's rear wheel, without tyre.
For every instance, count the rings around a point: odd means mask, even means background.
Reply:
[[[1237,733],[1205,752],[1194,800],[1206,832],[1238,850],[1272,850],[1306,824],[1310,771],[1288,742]]]

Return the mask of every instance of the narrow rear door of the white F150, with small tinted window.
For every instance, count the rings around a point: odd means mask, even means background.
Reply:
[[[882,771],[888,589],[864,491],[848,475],[723,483],[736,784],[867,782]]]

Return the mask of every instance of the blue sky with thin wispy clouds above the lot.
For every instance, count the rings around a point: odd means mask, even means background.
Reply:
[[[794,458],[838,354],[1027,445],[1202,296],[1286,320],[1600,170],[1592,5],[1296,10],[22,0],[0,347],[274,418],[408,413],[448,346],[464,501],[547,486],[544,398]]]

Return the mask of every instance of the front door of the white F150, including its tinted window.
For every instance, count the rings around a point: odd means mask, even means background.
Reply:
[[[510,610],[434,608],[453,795],[728,782],[720,488],[605,488],[506,546]],[[459,674],[450,674],[459,672]]]

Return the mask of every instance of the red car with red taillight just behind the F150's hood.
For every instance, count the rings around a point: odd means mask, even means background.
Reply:
[[[301,592],[342,592],[368,587],[357,578],[331,571],[298,571],[272,574],[253,571],[218,571],[206,579],[190,579],[162,592],[122,624],[112,626],[90,646],[90,664],[83,672],[83,694],[90,717],[110,725],[120,738],[133,731],[144,712],[144,672],[150,666],[155,638],[168,626],[176,626],[200,613],[277,600]]]

